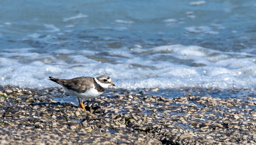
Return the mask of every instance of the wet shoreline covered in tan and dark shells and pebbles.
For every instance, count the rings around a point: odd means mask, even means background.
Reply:
[[[256,144],[252,97],[116,93],[85,101],[92,117],[30,90],[0,96],[1,144]]]

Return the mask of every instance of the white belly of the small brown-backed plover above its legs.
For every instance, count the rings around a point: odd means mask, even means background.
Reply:
[[[94,88],[91,88],[87,90],[85,93],[77,93],[76,91],[65,89],[67,93],[73,94],[76,97],[82,98],[82,99],[88,99],[88,98],[94,98],[101,95],[103,92],[98,92]]]

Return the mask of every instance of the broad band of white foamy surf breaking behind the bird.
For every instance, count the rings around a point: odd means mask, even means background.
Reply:
[[[1,52],[2,85],[43,89],[47,77],[110,75],[118,88],[253,88],[254,57],[198,46],[53,50],[20,48]],[[3,57],[4,56],[4,57]]]

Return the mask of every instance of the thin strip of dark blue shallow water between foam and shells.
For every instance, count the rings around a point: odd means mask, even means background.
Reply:
[[[50,91],[45,91],[50,90]],[[54,100],[60,103],[73,103],[78,106],[78,99],[74,95],[65,93],[63,88],[46,88],[45,90],[38,91],[39,94],[52,97]],[[55,90],[55,91],[53,91]],[[53,93],[55,92],[55,93]],[[213,89],[213,88],[180,88],[180,89],[149,89],[138,88],[132,90],[126,89],[108,89],[101,96],[105,97],[119,97],[119,95],[142,95],[143,97],[156,96],[156,97],[212,97],[212,98],[239,98],[241,100],[247,100],[248,98],[256,95],[255,90],[228,90],[228,89]],[[89,99],[88,99],[89,100]]]

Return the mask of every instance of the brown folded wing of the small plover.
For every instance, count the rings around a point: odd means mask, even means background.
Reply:
[[[77,77],[72,79],[59,79],[49,77],[51,81],[54,81],[57,84],[62,85],[63,87],[76,91],[78,93],[84,93],[85,91],[89,90],[92,86],[92,82],[95,84],[95,80],[92,77]]]

